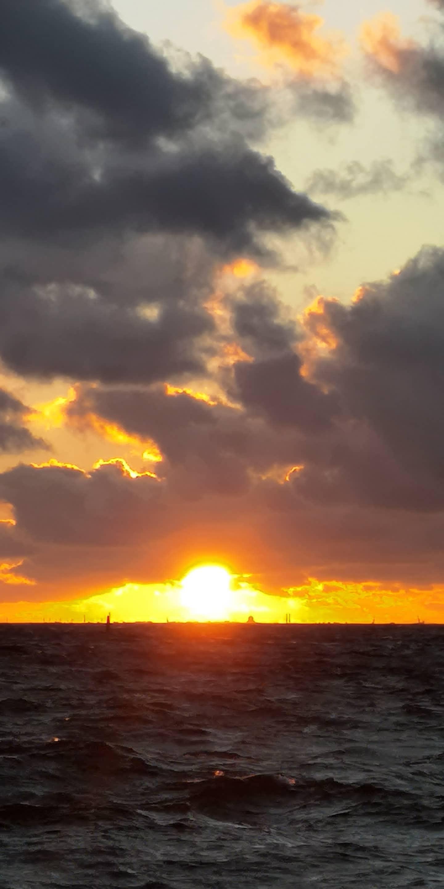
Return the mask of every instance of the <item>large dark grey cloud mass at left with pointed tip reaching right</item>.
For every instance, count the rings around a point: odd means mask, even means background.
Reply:
[[[0,356],[17,372],[148,382],[202,372],[213,330],[202,305],[221,257],[264,255],[267,230],[329,224],[249,148],[155,153],[134,172],[123,155],[95,179],[69,126],[12,108],[0,131]]]

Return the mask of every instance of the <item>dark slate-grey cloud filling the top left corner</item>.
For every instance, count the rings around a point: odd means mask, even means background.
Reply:
[[[57,100],[99,116],[124,140],[175,137],[226,113],[239,127],[263,118],[261,91],[208,60],[174,72],[146,36],[99,4],[89,17],[60,0],[2,0],[0,68],[35,105]]]

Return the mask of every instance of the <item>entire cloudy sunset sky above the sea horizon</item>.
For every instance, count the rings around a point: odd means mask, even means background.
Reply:
[[[0,105],[0,621],[444,621],[443,0],[0,0]]]

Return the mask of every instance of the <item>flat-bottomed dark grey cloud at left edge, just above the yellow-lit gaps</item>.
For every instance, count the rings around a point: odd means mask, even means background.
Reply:
[[[31,287],[12,276],[0,295],[0,355],[40,378],[149,382],[200,372],[212,330],[198,307],[165,303],[151,317],[69,283]]]

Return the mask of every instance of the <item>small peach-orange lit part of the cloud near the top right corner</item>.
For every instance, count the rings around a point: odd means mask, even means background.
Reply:
[[[363,23],[361,47],[381,68],[398,74],[402,66],[402,54],[414,49],[416,44],[401,36],[397,16],[392,12],[381,12],[375,19]]]

